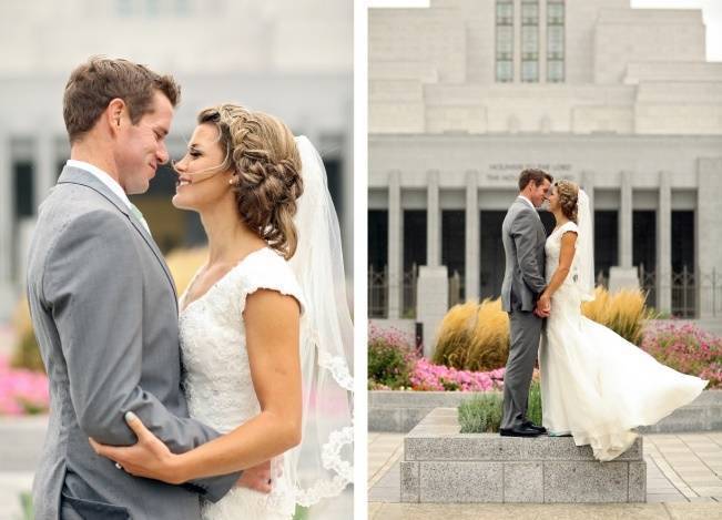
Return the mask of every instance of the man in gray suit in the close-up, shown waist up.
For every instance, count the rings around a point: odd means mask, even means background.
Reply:
[[[134,478],[88,441],[134,443],[129,411],[174,452],[218,436],[189,418],[175,286],[126,196],[145,192],[167,161],[179,96],[170,75],[101,58],[78,67],[65,86],[71,160],[40,207],[28,264],[51,395],[33,483],[38,519],[197,520],[200,497],[216,501],[238,481],[240,473],[182,486]]]

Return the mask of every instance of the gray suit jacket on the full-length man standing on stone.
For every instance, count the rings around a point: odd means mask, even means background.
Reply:
[[[501,284],[501,305],[511,310],[531,312],[547,286],[545,242],[547,234],[535,210],[517,198],[501,225],[506,271]]]

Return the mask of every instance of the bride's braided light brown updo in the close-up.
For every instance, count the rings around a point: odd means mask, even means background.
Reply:
[[[293,216],[303,193],[301,156],[291,130],[273,115],[235,104],[205,109],[197,122],[218,128],[223,166],[235,172],[241,220],[291,258],[298,243]]]

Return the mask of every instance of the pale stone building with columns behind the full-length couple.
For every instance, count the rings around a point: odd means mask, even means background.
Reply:
[[[501,222],[537,166],[590,194],[600,283],[722,323],[722,63],[701,10],[431,0],[368,20],[372,317],[497,297]],[[445,283],[417,292],[420,266]]]

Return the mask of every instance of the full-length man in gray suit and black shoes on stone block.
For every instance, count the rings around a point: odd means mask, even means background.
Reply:
[[[537,208],[541,206],[553,179],[541,170],[525,170],[519,175],[519,195],[509,207],[501,238],[506,271],[501,305],[509,314],[510,346],[504,376],[504,416],[499,434],[536,437],[546,434],[527,419],[529,386],[539,351],[543,317],[551,306],[540,299],[545,281],[546,232]]]

